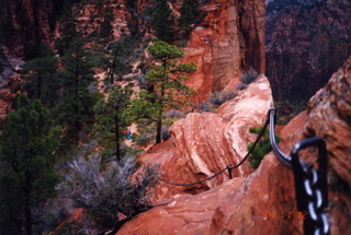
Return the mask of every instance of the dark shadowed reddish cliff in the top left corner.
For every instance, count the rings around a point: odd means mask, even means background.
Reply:
[[[33,58],[35,47],[50,44],[56,27],[55,11],[64,1],[3,0],[0,12],[0,44],[21,58]]]

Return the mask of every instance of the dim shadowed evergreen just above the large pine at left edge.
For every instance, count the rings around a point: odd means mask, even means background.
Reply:
[[[44,44],[39,45],[39,54],[36,59],[25,64],[24,71],[34,72],[26,78],[25,90],[30,98],[39,99],[46,107],[54,107],[58,99],[57,58]]]

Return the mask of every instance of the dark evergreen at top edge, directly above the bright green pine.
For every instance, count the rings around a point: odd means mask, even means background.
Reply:
[[[155,2],[155,11],[152,13],[155,36],[160,40],[171,42],[174,35],[172,10],[168,7],[167,0],[156,0]]]

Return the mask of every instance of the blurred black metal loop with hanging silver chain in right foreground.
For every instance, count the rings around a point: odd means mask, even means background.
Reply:
[[[313,164],[298,160],[298,151],[312,145],[318,146],[318,169],[315,169]],[[329,235],[330,226],[325,213],[325,208],[328,205],[325,146],[325,142],[315,137],[296,143],[291,153],[297,210],[308,212],[304,221],[306,235]]]

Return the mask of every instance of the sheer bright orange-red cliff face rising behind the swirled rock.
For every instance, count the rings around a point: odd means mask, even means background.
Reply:
[[[264,1],[213,0],[202,10],[206,17],[192,32],[184,58],[199,67],[189,81],[196,91],[194,101],[222,91],[251,68],[265,71]]]

